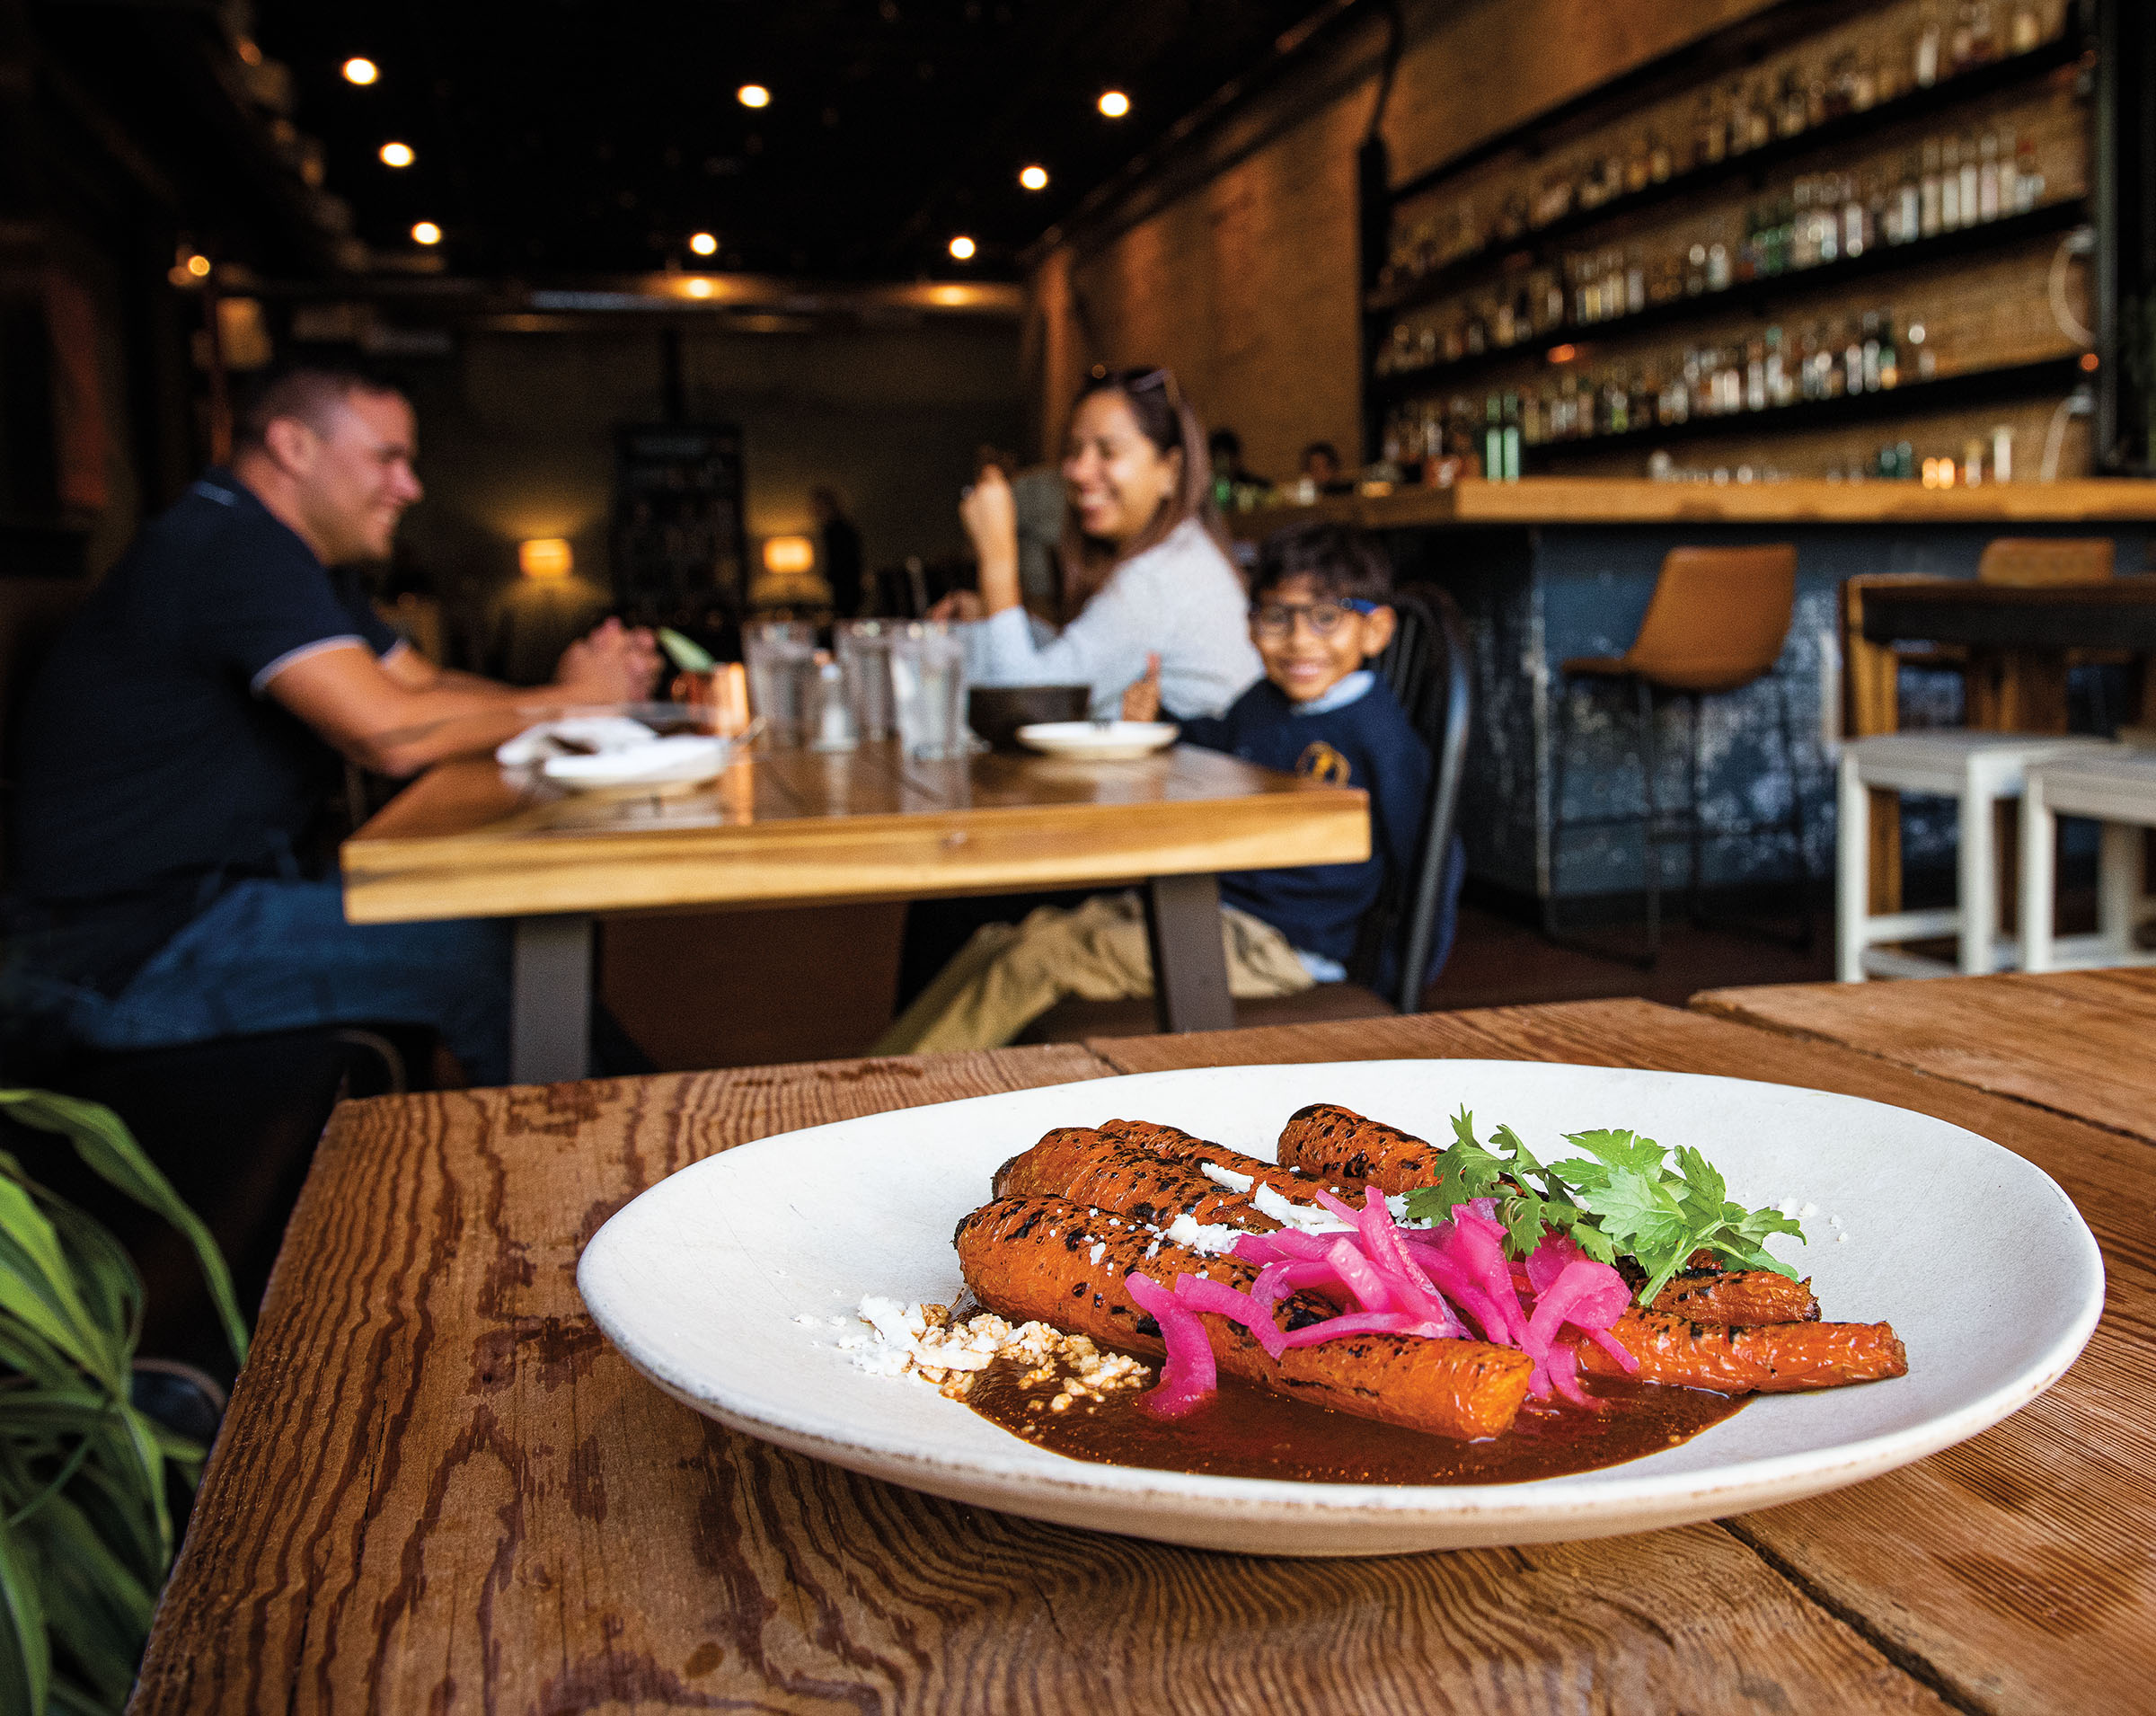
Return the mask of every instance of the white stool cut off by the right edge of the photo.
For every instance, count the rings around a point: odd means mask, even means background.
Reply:
[[[2104,826],[2096,869],[2096,933],[2053,936],[2053,854],[2059,817]],[[2134,931],[2156,918],[2141,871],[2141,830],[2156,828],[2156,750],[2109,746],[2029,770],[2022,791],[2022,970],[2156,966]]]

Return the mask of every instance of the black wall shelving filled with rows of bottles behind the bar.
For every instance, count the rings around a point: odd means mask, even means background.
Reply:
[[[2065,0],[1899,0],[1539,160],[1404,188],[1367,306],[1373,451],[1404,476],[1516,476],[1539,448],[1738,416],[1751,435],[2072,392],[2089,147],[2070,24]]]

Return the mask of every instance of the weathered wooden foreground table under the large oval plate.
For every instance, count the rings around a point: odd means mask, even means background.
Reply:
[[[2130,1052],[2152,1015],[2147,972],[1981,977],[345,1104],[134,1710],[2130,1707],[2156,1684],[2156,1067]],[[576,1293],[614,1209],[750,1138],[1121,1071],[1393,1056],[1733,1074],[1936,1115],[2059,1181],[2104,1253],[2104,1319],[2040,1399],[1850,1490],[1639,1537],[1296,1561],[785,1453],[638,1378]]]

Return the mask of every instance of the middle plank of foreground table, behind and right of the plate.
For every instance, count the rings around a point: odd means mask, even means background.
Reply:
[[[2104,1321],[2081,1362],[1958,1449],[1731,1531],[1964,1710],[2100,1710],[2119,1686],[2156,1679],[2145,1623],[2156,1610],[2156,1158],[2139,1138],[1839,1043],[1697,1024],[1697,1013],[1613,1000],[1093,1048],[1121,1071],[1427,1054],[1761,1078],[1938,1115],[2035,1162],[2104,1253]],[[2031,1033],[2033,1046],[2048,1035]]]

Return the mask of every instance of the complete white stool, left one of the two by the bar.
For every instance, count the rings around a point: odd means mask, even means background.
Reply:
[[[2020,798],[2033,763],[2078,750],[2109,750],[2102,739],[2042,733],[1880,733],[1841,746],[1841,815],[1835,826],[1835,977],[1945,977],[1988,972],[2012,961],[1999,942],[1999,864],[1992,804]],[[1958,901],[1934,912],[1871,912],[1871,789],[1932,793],[1960,802]],[[1927,936],[1958,936],[1960,959],[1927,959],[1880,946]]]

